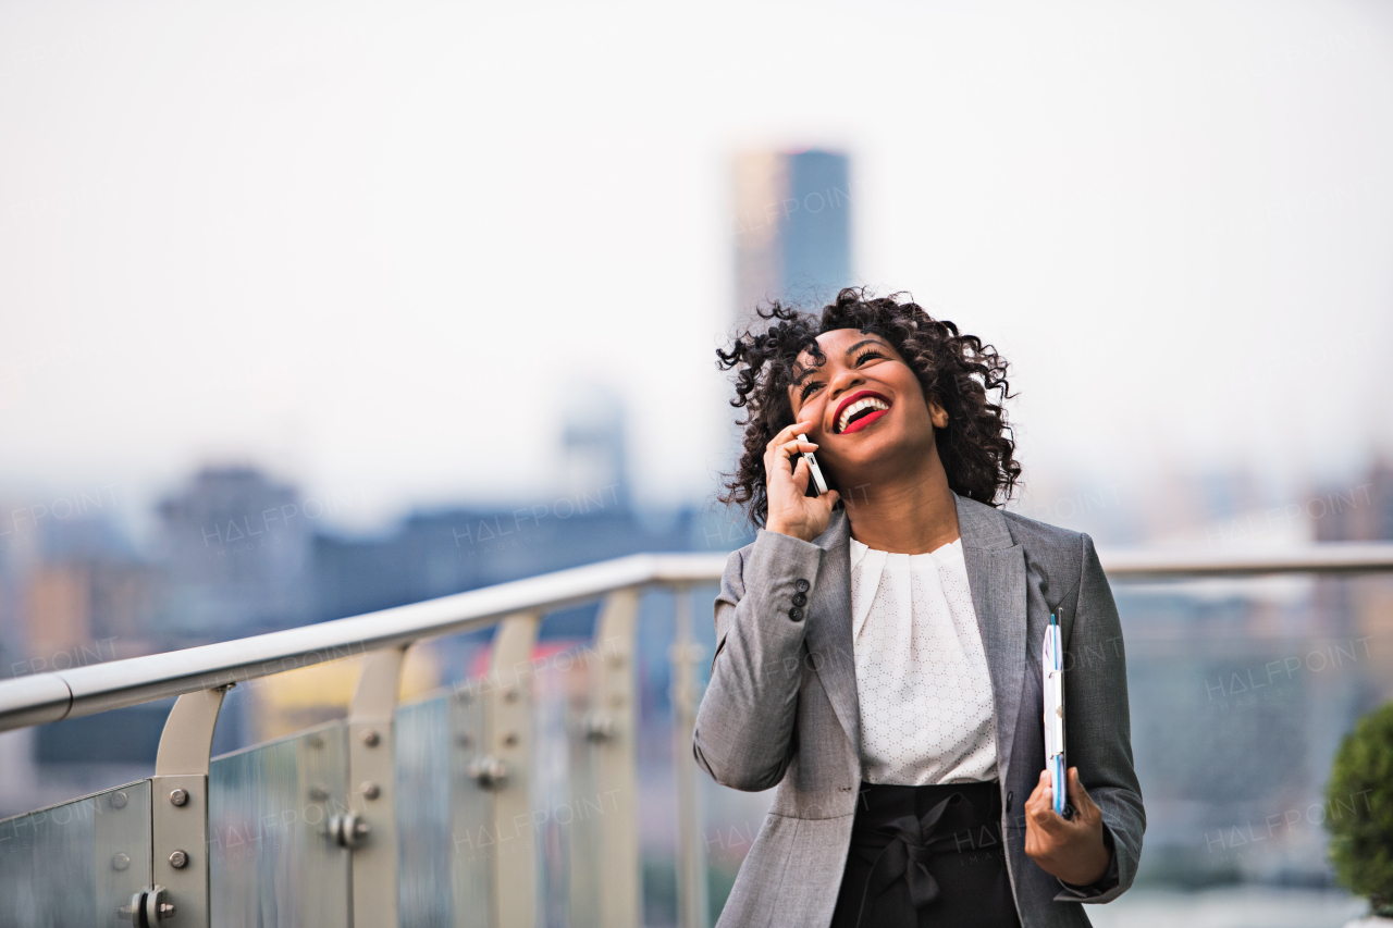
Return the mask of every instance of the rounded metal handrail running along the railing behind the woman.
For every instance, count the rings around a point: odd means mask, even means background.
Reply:
[[[553,610],[613,589],[715,582],[724,553],[631,555],[451,596],[182,651],[0,680],[0,732],[209,690],[378,648]],[[1112,580],[1393,570],[1393,543],[1328,542],[1270,552],[1103,550]]]

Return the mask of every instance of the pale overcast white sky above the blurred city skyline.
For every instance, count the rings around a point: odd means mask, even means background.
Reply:
[[[641,497],[705,497],[730,156],[809,145],[1041,479],[1393,447],[1386,3],[7,0],[0,490],[527,500],[600,382]]]

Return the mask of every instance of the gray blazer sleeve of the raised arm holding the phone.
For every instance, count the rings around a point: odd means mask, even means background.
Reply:
[[[816,545],[759,529],[754,545],[726,562],[716,596],[716,656],[692,733],[696,764],[722,786],[766,790],[788,769],[804,614],[822,556]]]

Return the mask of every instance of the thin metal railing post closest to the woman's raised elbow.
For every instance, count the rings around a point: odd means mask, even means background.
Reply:
[[[692,635],[691,587],[673,588],[677,641],[669,654],[673,665],[673,772],[677,776],[677,924],[706,928],[706,843],[702,840],[701,782],[692,758],[696,729],[696,666],[706,649]]]

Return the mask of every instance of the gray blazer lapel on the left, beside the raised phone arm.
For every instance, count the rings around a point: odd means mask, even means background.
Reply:
[[[827,531],[814,541],[826,553],[808,612],[809,662],[822,680],[837,720],[861,758],[861,704],[857,699],[857,663],[851,638],[851,524],[846,510],[832,513]]]

